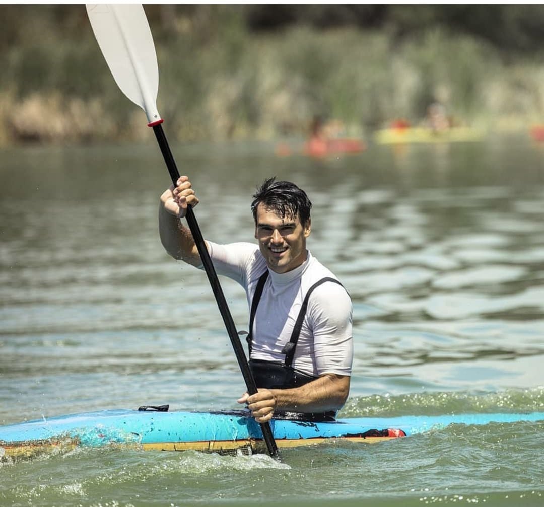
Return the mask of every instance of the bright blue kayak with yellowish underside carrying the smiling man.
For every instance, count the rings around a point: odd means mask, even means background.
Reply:
[[[362,417],[333,422],[273,419],[270,426],[281,449],[335,439],[367,443],[394,440],[450,424],[518,421],[544,421],[544,412]],[[103,410],[0,426],[2,461],[104,446],[220,454],[265,452],[261,427],[246,411]]]

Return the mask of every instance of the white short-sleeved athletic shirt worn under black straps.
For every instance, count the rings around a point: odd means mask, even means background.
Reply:
[[[251,305],[259,277],[267,269],[258,245],[207,241],[215,270],[244,287]],[[324,277],[336,276],[308,251],[308,258],[288,273],[269,270],[253,324],[252,359],[285,361],[289,341],[308,289]],[[296,344],[292,366],[313,376],[350,375],[353,361],[351,299],[346,290],[325,282],[313,290]]]

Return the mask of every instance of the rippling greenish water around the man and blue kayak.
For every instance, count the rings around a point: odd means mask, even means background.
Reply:
[[[544,152],[524,137],[278,158],[172,146],[206,237],[252,240],[250,195],[292,179],[313,254],[354,303],[341,416],[542,411]],[[203,273],[157,233],[156,146],[25,147],[0,164],[0,422],[244,391]],[[245,297],[223,288],[239,330]],[[542,423],[454,425],[264,455],[75,450],[0,467],[0,505],[542,505]]]

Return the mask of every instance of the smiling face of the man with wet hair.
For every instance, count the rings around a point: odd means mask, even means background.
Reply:
[[[307,257],[306,238],[310,236],[310,219],[302,226],[298,215],[282,218],[262,203],[257,206],[255,238],[268,268],[287,273],[298,268]]]

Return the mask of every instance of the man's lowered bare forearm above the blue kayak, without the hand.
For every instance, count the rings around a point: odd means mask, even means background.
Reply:
[[[270,389],[276,409],[292,412],[339,410],[349,393],[349,376],[326,374],[301,387]]]

